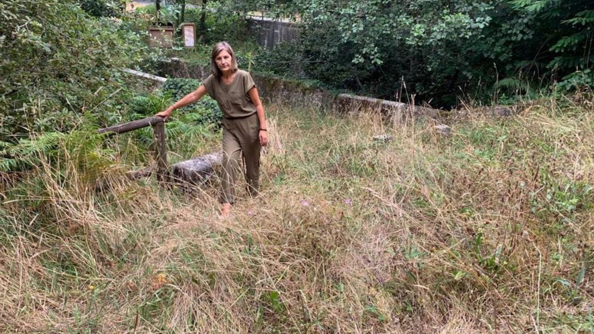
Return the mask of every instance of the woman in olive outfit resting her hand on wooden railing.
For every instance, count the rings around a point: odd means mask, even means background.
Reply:
[[[238,70],[233,49],[226,42],[214,46],[210,58],[212,74],[192,93],[156,116],[168,118],[178,108],[200,100],[208,94],[223,112],[223,177],[221,213],[229,216],[235,201],[233,185],[241,152],[248,193],[258,192],[260,177],[260,146],[266,146],[268,136],[264,107],[251,75]]]

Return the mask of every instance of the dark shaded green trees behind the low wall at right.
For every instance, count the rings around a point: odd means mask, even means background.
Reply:
[[[506,96],[592,84],[591,1],[251,0],[229,8],[301,22],[298,45],[265,52],[259,69],[284,74],[283,62],[274,64],[284,53],[309,78],[377,97],[452,107],[460,96],[513,102]]]

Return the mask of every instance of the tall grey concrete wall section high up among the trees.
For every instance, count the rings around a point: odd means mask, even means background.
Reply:
[[[299,38],[299,24],[286,21],[276,21],[266,17],[248,16],[248,28],[258,44],[272,49],[280,42]]]

